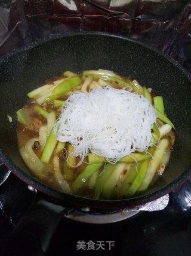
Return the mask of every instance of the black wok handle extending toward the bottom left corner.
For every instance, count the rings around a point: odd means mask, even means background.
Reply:
[[[5,255],[46,255],[57,225],[71,208],[44,199],[33,203],[12,231]]]

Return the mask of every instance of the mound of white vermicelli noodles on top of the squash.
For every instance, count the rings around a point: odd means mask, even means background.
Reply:
[[[66,104],[54,132],[59,141],[73,145],[73,156],[82,161],[92,152],[115,163],[152,146],[151,129],[157,116],[143,95],[106,86],[72,94]]]

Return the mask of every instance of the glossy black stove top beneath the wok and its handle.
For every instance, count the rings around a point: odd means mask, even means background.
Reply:
[[[46,255],[190,256],[189,191],[191,179],[171,192],[170,201],[164,210],[139,212],[131,218],[112,224],[86,224],[63,217]],[[10,233],[33,203],[35,195],[34,191],[12,173],[0,186],[0,248],[14,248],[13,243],[8,243]],[[26,253],[23,248],[19,248],[18,254],[12,255]],[[30,248],[27,248],[27,255],[30,255]]]

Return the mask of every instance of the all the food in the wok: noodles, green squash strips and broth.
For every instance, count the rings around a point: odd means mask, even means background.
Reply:
[[[20,155],[34,176],[96,199],[131,197],[162,175],[174,125],[161,96],[107,70],[66,71],[17,111]]]

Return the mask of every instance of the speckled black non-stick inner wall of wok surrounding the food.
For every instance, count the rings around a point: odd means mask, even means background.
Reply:
[[[141,85],[152,88],[156,95],[162,95],[166,112],[176,127],[174,150],[167,170],[152,188],[138,196],[159,191],[189,167],[190,79],[175,62],[158,52],[115,35],[73,34],[17,50],[5,56],[0,64],[0,143],[14,162],[15,170],[19,168],[30,175],[20,158],[16,137],[16,110],[23,106],[27,92],[55,79],[63,71],[80,73],[98,68],[137,79]],[[13,122],[9,121],[8,115]]]

